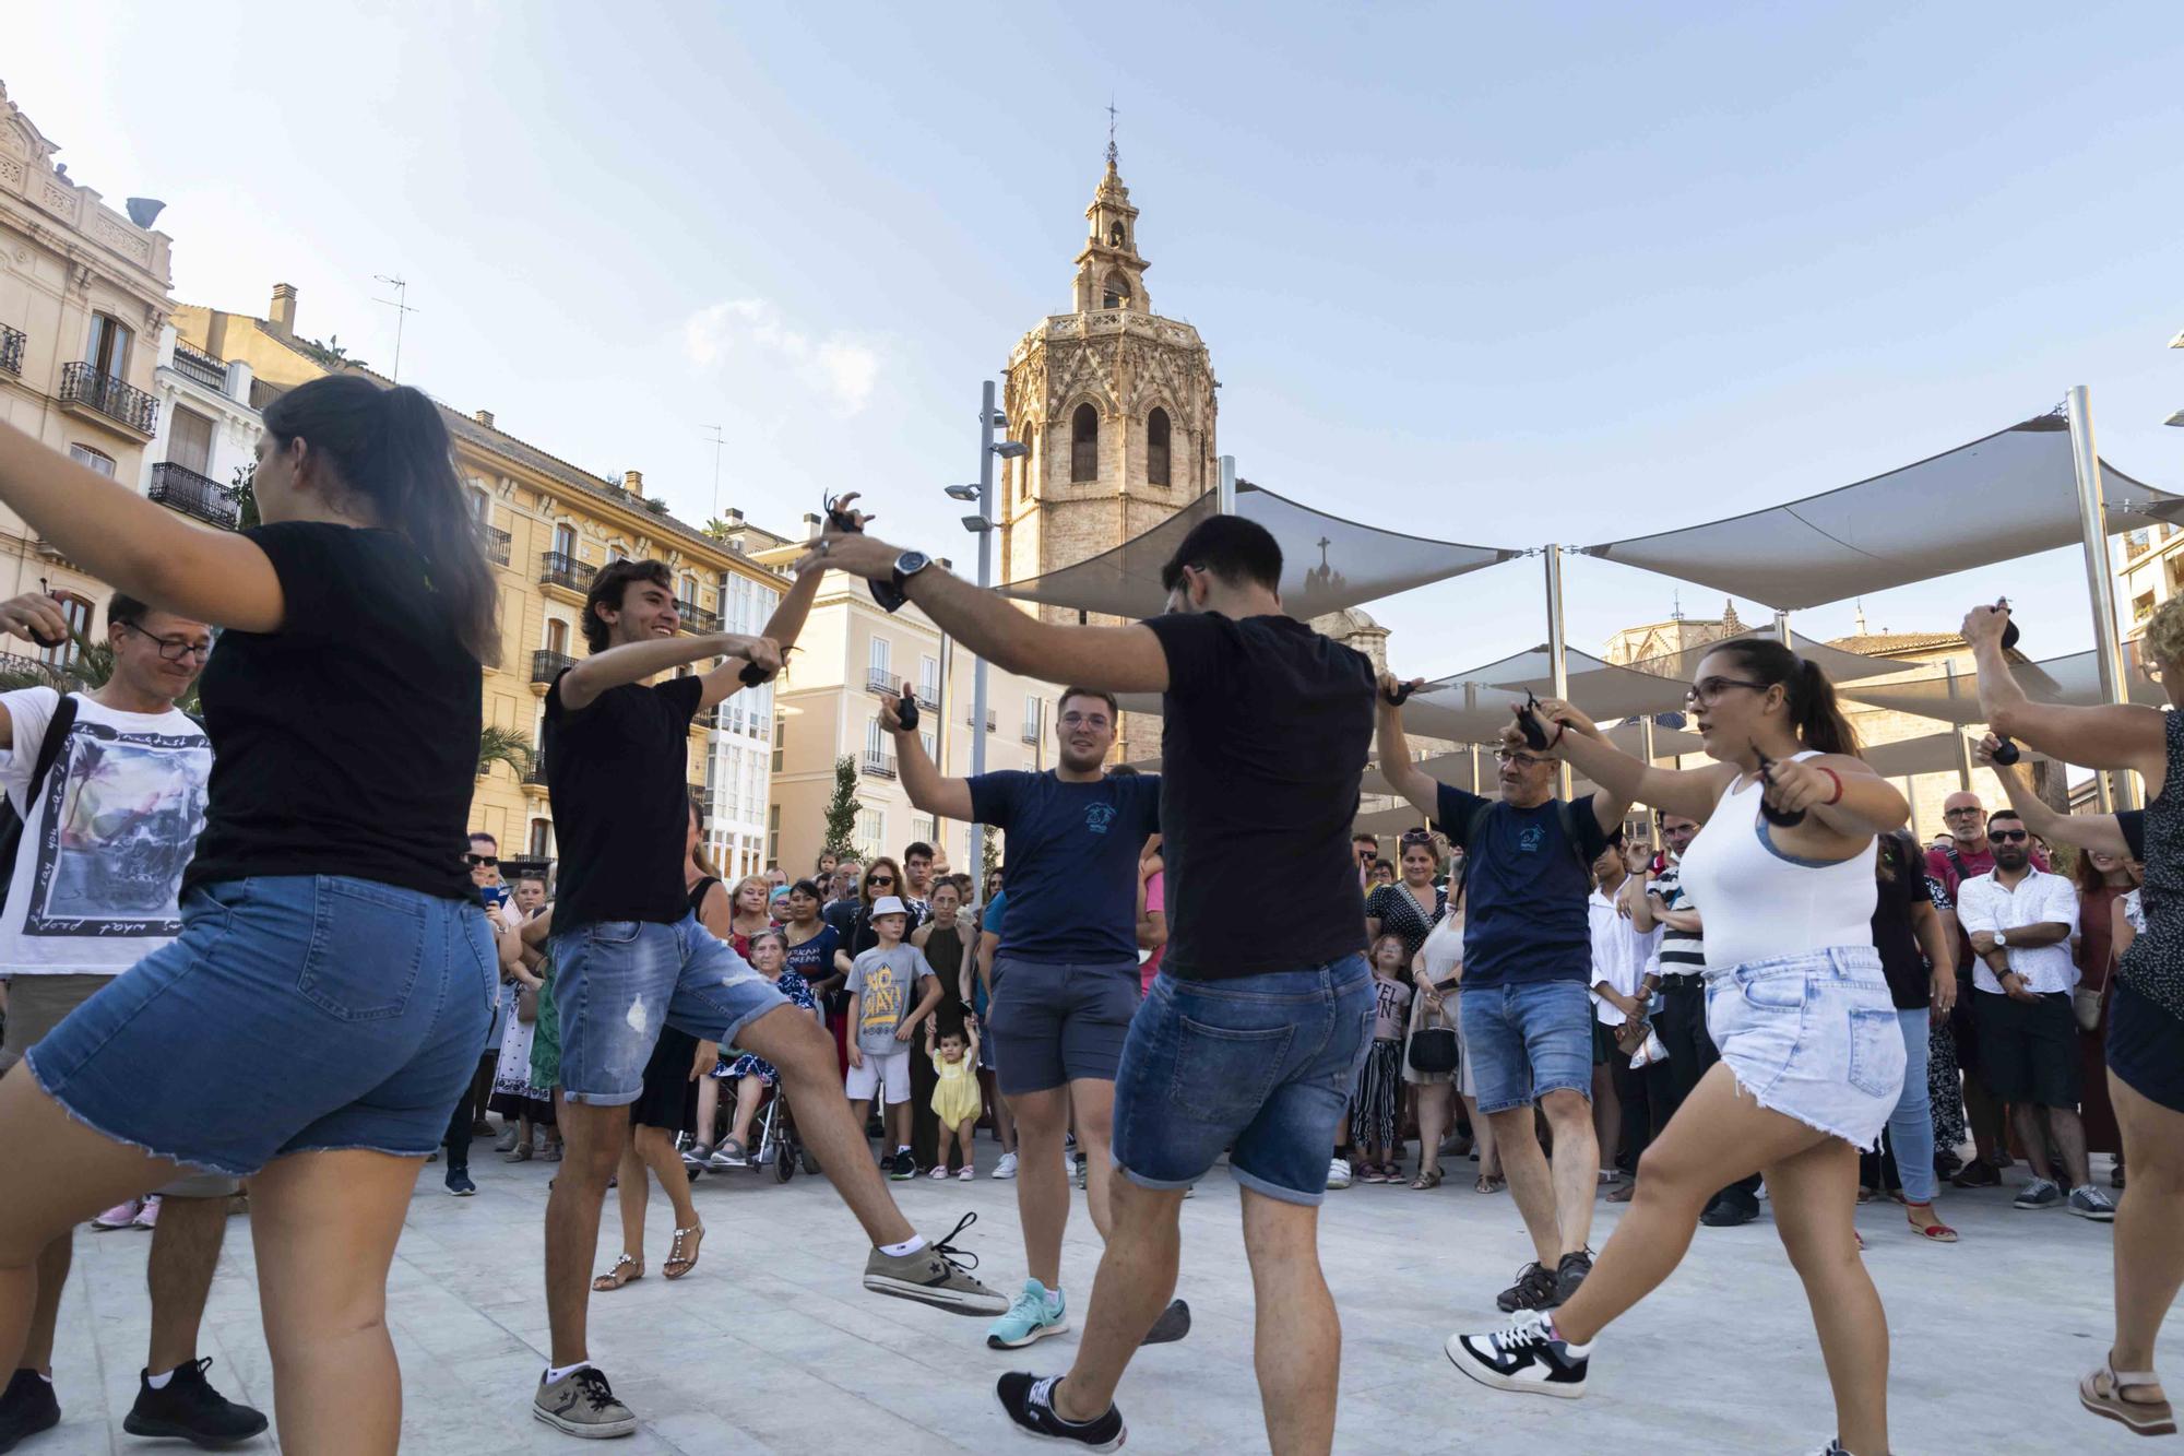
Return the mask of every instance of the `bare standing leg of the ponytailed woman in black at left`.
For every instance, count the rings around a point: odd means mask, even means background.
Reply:
[[[393,1452],[402,1439],[387,1266],[422,1165],[384,1152],[297,1152],[251,1178],[282,1449]]]

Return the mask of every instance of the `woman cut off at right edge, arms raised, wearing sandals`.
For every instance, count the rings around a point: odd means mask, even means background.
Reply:
[[[1994,732],[2084,767],[2136,770],[2147,783],[2140,853],[2127,844],[2118,822],[2125,815],[2044,813],[2018,774],[2003,774],[2025,826],[2051,844],[2136,853],[2147,864],[2147,929],[2116,964],[2108,1008],[2108,1095],[2132,1170],[2132,1191],[2116,1205],[2116,1340],[2077,1395],[2086,1410],[2140,1436],[2164,1436],[2177,1423],[2153,1375],[2153,1336],[2184,1288],[2184,711],[2027,700],[2003,651],[2007,621],[2009,612],[1996,608],[1963,619],[1979,660],[1979,706]],[[2184,704],[2184,597],[2153,612],[2140,651],[2169,702]],[[1992,743],[1981,756],[1990,754]]]

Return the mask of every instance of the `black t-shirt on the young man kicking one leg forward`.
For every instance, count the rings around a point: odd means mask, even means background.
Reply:
[[[566,673],[563,673],[566,676]],[[690,835],[690,717],[697,676],[625,682],[570,713],[546,689],[546,794],[561,848],[555,931],[596,920],[673,925]]]

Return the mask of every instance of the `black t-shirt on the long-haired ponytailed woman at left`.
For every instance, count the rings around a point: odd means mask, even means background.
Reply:
[[[201,702],[205,833],[183,888],[354,874],[470,901],[480,667],[395,531],[282,520],[245,531],[273,562],[277,632],[221,632]]]

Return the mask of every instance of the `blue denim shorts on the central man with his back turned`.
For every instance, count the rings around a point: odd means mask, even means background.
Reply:
[[[1114,1082],[1114,1161],[1142,1187],[1175,1189],[1227,1148],[1245,1187],[1317,1205],[1376,1001],[1363,955],[1221,982],[1155,977]]]

